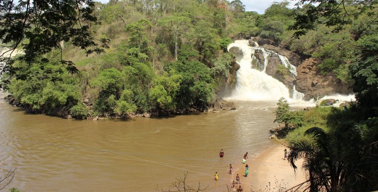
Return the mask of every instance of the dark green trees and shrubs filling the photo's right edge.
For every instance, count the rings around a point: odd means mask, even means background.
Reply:
[[[319,67],[323,72],[338,77],[344,74],[352,80],[356,102],[343,107],[290,110],[281,98],[275,121],[284,123],[283,131],[288,134],[291,165],[296,168],[296,161],[304,159],[302,167],[308,172],[306,189],[374,191],[378,189],[378,2],[322,3],[295,10],[295,23],[290,28],[299,30],[294,33],[302,36],[291,41],[290,48],[295,49],[295,42],[306,45],[318,32],[328,31],[327,41],[318,41],[323,45],[315,46],[312,56],[322,59]],[[333,17],[336,19],[327,20]],[[308,25],[303,21],[308,21]],[[314,27],[318,30],[308,30]]]

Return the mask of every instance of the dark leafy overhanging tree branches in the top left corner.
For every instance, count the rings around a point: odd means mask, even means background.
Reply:
[[[60,42],[63,41],[71,41],[72,45],[83,49],[90,47],[87,54],[103,52],[103,48],[108,47],[108,39],[101,39],[101,47],[89,30],[89,23],[96,21],[96,17],[92,15],[94,5],[91,0],[21,0],[17,4],[3,1],[0,6],[0,40],[8,45],[9,50],[1,56],[22,49],[24,54],[17,59],[30,64],[51,50],[62,49]],[[47,63],[49,59],[43,57],[42,60]],[[1,61],[6,64],[0,70],[0,77],[4,72],[17,71],[12,66],[14,58],[11,56],[2,58]],[[72,61],[63,60],[61,56],[60,65],[70,73],[78,72]]]

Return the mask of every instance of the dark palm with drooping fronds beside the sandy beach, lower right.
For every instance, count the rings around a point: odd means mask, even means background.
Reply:
[[[339,191],[347,181],[348,172],[345,161],[335,158],[330,136],[319,127],[308,129],[304,135],[312,136],[312,141],[300,141],[291,147],[291,166],[295,170],[295,161],[304,158],[302,167],[309,173],[309,191]]]

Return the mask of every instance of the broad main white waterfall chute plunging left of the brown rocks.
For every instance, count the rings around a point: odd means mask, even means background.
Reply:
[[[290,98],[289,89],[286,88],[283,83],[265,73],[268,65],[268,57],[274,53],[273,51],[261,47],[251,47],[248,44],[248,40],[236,40],[234,43],[228,45],[228,51],[232,47],[240,49],[242,56],[236,59],[236,62],[240,65],[240,69],[236,74],[237,82],[235,90],[233,90],[229,99],[277,101],[280,97],[285,97],[286,99]],[[255,49],[263,51],[265,60],[264,70],[262,72],[251,68],[251,62],[254,58],[254,56],[251,55]],[[285,64],[283,63],[283,65]]]

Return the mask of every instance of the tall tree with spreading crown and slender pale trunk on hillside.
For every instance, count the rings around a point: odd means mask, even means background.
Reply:
[[[181,37],[184,29],[188,27],[191,19],[184,16],[169,16],[158,21],[162,27],[168,28],[169,32],[174,37],[174,57],[177,60],[178,40]]]

